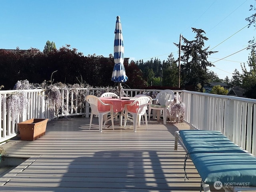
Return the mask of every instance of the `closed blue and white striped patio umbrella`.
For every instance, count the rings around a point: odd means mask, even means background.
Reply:
[[[120,16],[116,17],[115,40],[114,40],[114,69],[111,80],[118,83],[119,97],[121,98],[121,83],[126,82],[128,77],[124,69],[124,40]]]

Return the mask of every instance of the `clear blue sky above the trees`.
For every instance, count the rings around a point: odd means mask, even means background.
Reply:
[[[162,61],[172,52],[178,58],[178,48],[173,42],[179,42],[180,34],[193,40],[195,34],[191,27],[200,28],[209,39],[205,42],[209,50],[228,38],[212,50],[218,53],[208,60],[215,65],[209,70],[220,78],[231,78],[235,69],[242,71],[241,63],[247,63],[250,52],[240,50],[256,34],[253,27],[245,27],[248,25],[245,18],[254,13],[249,11],[250,4],[255,1],[1,0],[0,48],[43,51],[50,40],[56,48],[70,44],[84,56],[108,57],[113,54],[116,16],[120,16],[124,57],[134,61],[150,58]],[[226,56],[229,57],[216,62]]]

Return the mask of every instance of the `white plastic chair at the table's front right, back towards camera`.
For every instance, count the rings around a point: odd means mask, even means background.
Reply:
[[[146,122],[146,128],[148,130],[148,120],[147,120],[147,107],[152,101],[152,98],[150,99],[150,96],[141,96],[138,97],[134,102],[131,104],[125,104],[124,105],[124,128],[126,126],[126,121],[128,118],[128,113],[132,114],[133,117],[133,131],[136,132],[137,130],[137,124],[138,127],[140,126],[140,120],[141,116],[144,115],[145,122]]]

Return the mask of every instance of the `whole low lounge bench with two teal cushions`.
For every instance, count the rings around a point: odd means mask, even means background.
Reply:
[[[222,183],[225,191],[237,191],[238,187],[256,191],[256,157],[224,134],[212,130],[181,130],[175,134],[175,150],[178,149],[178,139],[198,170],[204,191],[210,192],[209,186],[214,186],[217,181]],[[225,184],[233,186],[227,188]]]

